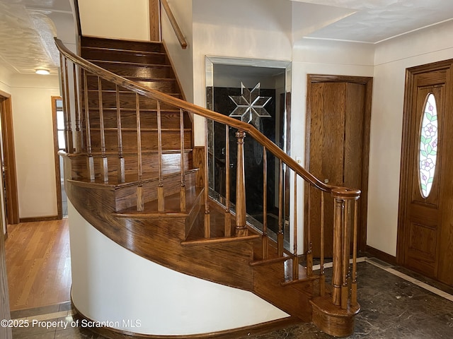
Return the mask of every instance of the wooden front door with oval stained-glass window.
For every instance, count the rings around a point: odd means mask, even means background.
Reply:
[[[398,261],[453,285],[452,61],[407,70]]]

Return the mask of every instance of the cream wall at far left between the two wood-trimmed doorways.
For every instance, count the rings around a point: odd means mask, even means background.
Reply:
[[[57,76],[11,76],[19,218],[57,215],[52,96]]]

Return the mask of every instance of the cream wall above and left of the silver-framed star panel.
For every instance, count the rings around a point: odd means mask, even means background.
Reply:
[[[291,1],[193,0],[193,102],[206,107],[205,56],[290,60]],[[195,145],[205,144],[195,117]]]

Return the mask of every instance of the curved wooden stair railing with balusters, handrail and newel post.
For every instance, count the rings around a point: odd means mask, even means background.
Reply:
[[[297,282],[299,280],[299,244],[297,239],[299,238],[299,232],[297,230],[297,206],[300,201],[297,196],[297,182],[299,179],[303,179],[306,185],[313,187],[321,191],[321,225],[306,225],[308,228],[307,232],[307,249],[305,252],[306,257],[306,277],[308,278],[319,278],[319,294],[321,297],[331,299],[331,304],[339,309],[348,310],[350,307],[357,308],[357,200],[360,197],[360,191],[355,189],[348,189],[345,187],[331,186],[324,184],[319,179],[314,177],[313,174],[307,172],[301,167],[296,160],[293,160],[287,154],[285,154],[275,143],[266,138],[263,133],[260,133],[253,125],[247,124],[246,122],[226,117],[223,114],[213,112],[203,107],[198,107],[184,100],[180,100],[176,97],[171,97],[156,90],[145,88],[138,83],[129,81],[125,78],[115,75],[110,71],[92,64],[85,59],[73,54],[64,46],[64,44],[55,39],[57,48],[61,55],[61,73],[62,73],[62,92],[64,94],[64,107],[65,107],[65,126],[66,126],[66,138],[67,148],[66,153],[68,157],[74,158],[74,165],[71,162],[72,168],[70,169],[71,174],[67,177],[71,179],[96,182],[96,184],[117,184],[124,185],[130,184],[137,187],[137,210],[144,210],[144,204],[149,201],[149,192],[144,189],[147,179],[149,179],[144,172],[144,167],[152,167],[153,165],[147,164],[146,166],[142,163],[142,153],[144,152],[144,144],[148,141],[144,139],[142,129],[142,118],[145,112],[142,109],[150,105],[156,105],[156,124],[158,126],[158,177],[159,186],[157,188],[157,200],[158,200],[158,212],[165,211],[164,197],[166,192],[165,173],[162,169],[162,147],[164,141],[162,140],[162,126],[161,126],[161,109],[163,107],[172,107],[177,109],[180,114],[180,210],[185,210],[185,170],[187,162],[184,160],[185,152],[185,133],[184,133],[184,121],[183,114],[188,112],[190,114],[197,114],[204,117],[206,121],[212,120],[225,126],[226,131],[226,152],[225,152],[225,164],[226,164],[226,203],[225,203],[225,222],[224,236],[225,237],[243,237],[248,235],[247,225],[247,214],[246,214],[246,191],[245,191],[245,169],[244,169],[244,149],[243,145],[246,136],[251,136],[257,141],[263,148],[263,261],[275,260],[270,257],[268,253],[268,220],[267,220],[267,179],[268,179],[268,154],[273,155],[276,163],[278,164],[278,201],[279,201],[279,215],[278,215],[278,230],[277,230],[277,246],[276,255],[277,258],[285,258],[289,254],[293,259],[293,270],[292,270],[292,281]],[[72,70],[69,71],[69,70]],[[69,76],[73,74],[74,76]],[[88,76],[96,78],[96,88],[90,88],[93,86],[93,82],[90,85],[88,83]],[[71,94],[71,88],[74,88],[75,93]],[[97,90],[97,97],[93,97],[91,91]],[[108,98],[104,97],[105,93],[115,93],[115,100],[109,101]],[[137,159],[137,167],[134,170],[136,174],[132,174],[132,170],[129,168],[125,157],[125,141],[123,140],[122,131],[125,127],[122,126],[121,114],[123,111],[131,110],[131,108],[125,107],[127,104],[126,98],[134,98],[134,109],[136,117],[136,133],[137,133],[137,144],[134,146],[135,159]],[[71,99],[79,100],[80,102],[71,105],[69,102]],[[147,100],[154,100],[154,104],[150,104]],[[76,107],[76,112],[72,111],[72,107]],[[108,107],[108,108],[107,108]],[[112,121],[108,121],[109,126],[105,126],[104,111],[105,109],[116,110],[116,121],[115,131],[117,132],[117,142],[108,140],[105,136],[105,132],[110,130]],[[84,114],[82,114],[82,111]],[[92,124],[92,112],[98,111],[99,122],[98,127],[94,128]],[[151,114],[147,112],[147,114]],[[72,133],[72,122],[76,126],[76,133]],[[98,129],[98,131],[96,130]],[[231,230],[229,220],[231,219],[231,206],[229,203],[230,191],[230,173],[229,164],[231,161],[231,150],[229,148],[229,129],[236,130],[236,224],[234,230]],[[207,129],[206,129],[207,130]],[[133,143],[131,140],[129,143]],[[115,144],[115,150],[112,144]],[[74,147],[79,145],[79,147]],[[208,182],[208,171],[207,166],[209,160],[207,157],[207,142],[205,145],[205,171],[202,173],[204,176],[204,189],[205,189],[205,237],[210,238],[210,198],[209,198],[209,182]],[[81,160],[81,161],[77,161]],[[96,161],[100,160],[100,161]],[[96,162],[98,164],[96,165]],[[113,162],[114,166],[110,166],[110,162]],[[283,217],[283,169],[286,167],[291,170],[294,174],[294,224],[293,227],[293,249],[292,251],[285,250],[284,246],[284,232],[285,232],[285,220]],[[155,174],[155,173],[154,173]],[[152,195],[152,192],[151,192]],[[333,203],[334,215],[333,215],[333,271],[332,271],[332,287],[329,292],[328,286],[325,284],[325,273],[324,273],[324,224],[326,222],[324,218],[326,201]],[[309,208],[311,204],[309,198]],[[320,266],[321,270],[319,275],[315,275],[313,272],[313,255],[312,255],[312,242],[311,233],[316,230],[321,232],[321,258]],[[350,266],[350,244],[352,238],[352,267]]]

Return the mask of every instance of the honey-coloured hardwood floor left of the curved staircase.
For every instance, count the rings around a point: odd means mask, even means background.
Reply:
[[[8,225],[5,247],[11,311],[70,300],[68,219]]]

